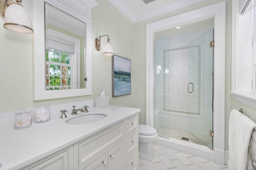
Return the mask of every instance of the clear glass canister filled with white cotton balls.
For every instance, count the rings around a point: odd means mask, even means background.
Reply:
[[[34,117],[34,123],[42,123],[50,120],[50,104],[41,103],[35,105],[35,109],[32,111]]]

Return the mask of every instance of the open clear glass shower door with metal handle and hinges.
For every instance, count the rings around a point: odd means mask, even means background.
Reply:
[[[200,145],[213,149],[213,59],[214,30],[189,43],[188,50],[188,132]]]

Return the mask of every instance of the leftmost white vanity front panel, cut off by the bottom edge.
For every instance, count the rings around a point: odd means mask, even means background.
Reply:
[[[68,170],[68,151],[62,152],[30,170]]]

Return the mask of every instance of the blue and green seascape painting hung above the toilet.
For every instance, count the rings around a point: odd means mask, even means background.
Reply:
[[[112,97],[131,92],[131,60],[112,55]]]

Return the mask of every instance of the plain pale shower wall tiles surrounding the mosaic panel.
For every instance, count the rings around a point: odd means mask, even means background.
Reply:
[[[164,39],[164,41],[158,41],[155,42],[155,67],[157,65],[163,66],[163,54],[162,51],[164,49],[174,49],[174,48],[180,48],[180,47],[186,47],[188,46],[188,43],[193,41],[194,39],[200,37],[204,33],[209,31],[209,29],[201,30],[201,31],[195,31],[191,33],[185,33],[181,35],[174,35],[171,37],[168,37],[167,39]],[[169,40],[169,42],[166,42],[166,40]],[[201,41],[202,42],[202,41]],[[169,45],[170,44],[170,45]],[[169,45],[169,47],[166,47]],[[209,42],[207,44],[204,44],[204,46],[209,45]],[[161,72],[161,74],[155,74],[155,119],[162,119],[162,121],[156,121],[155,120],[155,127],[158,129],[162,127],[170,127],[172,129],[178,129],[182,131],[190,131],[193,133],[198,133],[202,135],[209,135],[209,130],[212,129],[212,76],[209,76],[209,74],[212,74],[212,66],[206,66],[209,65],[207,62],[212,62],[210,60],[211,56],[208,54],[204,54],[203,56],[203,82],[202,82],[202,117],[191,117],[187,115],[180,115],[180,114],[172,114],[172,113],[162,113],[163,110],[163,93],[164,88],[162,87],[162,81],[164,72]],[[164,71],[164,70],[162,70]],[[158,117],[158,118],[157,118]]]

